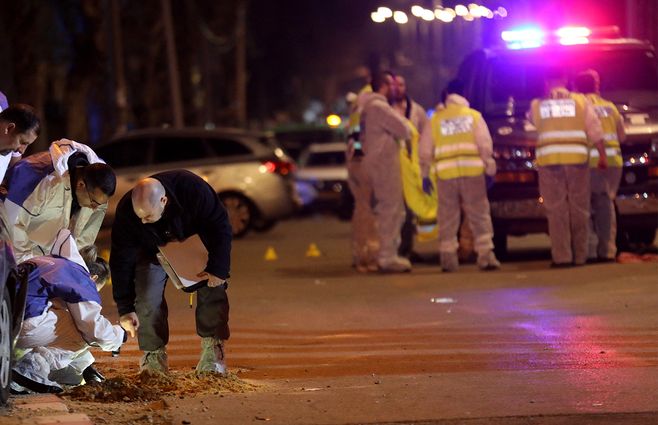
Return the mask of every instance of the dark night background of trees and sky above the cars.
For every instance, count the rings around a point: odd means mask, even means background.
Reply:
[[[41,111],[35,149],[60,137],[93,145],[126,129],[174,122],[163,1],[0,0],[0,90],[10,103]],[[520,24],[617,25],[624,36],[658,43],[653,0],[486,0],[479,4],[503,6],[508,17],[406,25],[376,24],[370,13],[388,6],[410,15],[413,4],[437,2],[169,2],[187,126],[320,124],[328,113],[345,112],[344,95],[361,88],[373,68],[405,75],[411,95],[432,107],[467,53]],[[459,3],[467,4],[442,5]],[[236,32],[240,6],[244,37]],[[237,65],[241,41],[244,67]],[[241,81],[246,116],[236,94]]]

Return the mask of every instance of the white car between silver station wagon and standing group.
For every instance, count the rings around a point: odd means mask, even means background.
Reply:
[[[306,209],[329,210],[350,218],[353,199],[347,185],[345,142],[314,143],[299,156],[297,192]]]

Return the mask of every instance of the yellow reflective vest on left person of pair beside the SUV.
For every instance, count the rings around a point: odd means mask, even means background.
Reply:
[[[563,98],[534,99],[532,119],[537,127],[538,166],[584,164],[589,158],[583,95],[565,92]]]

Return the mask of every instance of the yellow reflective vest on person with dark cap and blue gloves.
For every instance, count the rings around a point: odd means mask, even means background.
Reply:
[[[484,174],[474,131],[480,118],[475,109],[456,104],[448,104],[432,116],[434,162],[440,180]]]

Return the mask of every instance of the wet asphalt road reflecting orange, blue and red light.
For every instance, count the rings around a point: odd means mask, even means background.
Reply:
[[[168,399],[172,423],[658,423],[656,263],[552,270],[533,236],[512,239],[497,272],[359,274],[349,234],[313,216],[234,242],[228,365],[260,388]],[[170,365],[189,369],[193,311],[172,287],[167,298]],[[98,362],[139,355],[131,341]]]

